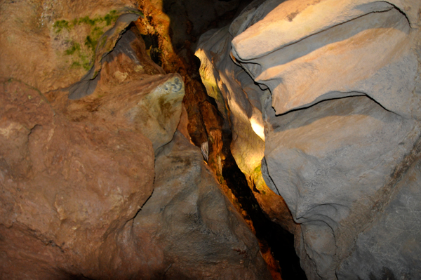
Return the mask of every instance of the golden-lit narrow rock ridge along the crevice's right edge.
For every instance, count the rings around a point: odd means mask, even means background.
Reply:
[[[210,30],[201,36],[196,51],[201,60],[201,79],[208,95],[215,98],[218,109],[229,123],[233,134],[232,155],[246,175],[261,208],[272,220],[294,232],[295,223],[285,201],[262,178],[262,171],[265,171],[261,167],[265,152],[262,105],[269,91],[262,93],[253,79],[232,62],[229,57],[231,39],[228,27]]]

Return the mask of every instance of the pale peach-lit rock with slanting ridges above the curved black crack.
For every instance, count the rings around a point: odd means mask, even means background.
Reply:
[[[419,32],[411,25],[420,19],[389,2],[288,1],[236,36],[232,54],[270,89],[276,114],[364,94],[419,118],[420,98],[412,93]],[[408,5],[420,8],[419,1]]]

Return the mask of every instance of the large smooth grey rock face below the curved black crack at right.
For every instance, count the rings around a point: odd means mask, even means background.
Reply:
[[[342,261],[370,222],[377,194],[420,137],[420,124],[362,96],[320,102],[269,123],[265,179],[302,224],[302,254],[316,263],[307,272],[332,279],[335,258]]]

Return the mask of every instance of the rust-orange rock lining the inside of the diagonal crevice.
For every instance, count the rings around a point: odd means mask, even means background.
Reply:
[[[240,176],[240,179],[234,175],[237,174],[238,168],[234,168],[235,161],[229,148],[232,133],[227,121],[222,119],[218,109],[215,108],[213,98],[206,94],[206,88],[200,82],[200,64],[194,56],[194,46],[198,35],[211,27],[222,27],[234,18],[235,13],[241,11],[241,6],[245,6],[248,2],[208,0],[201,1],[199,4],[197,1],[190,0],[140,0],[140,7],[145,18],[140,18],[137,26],[145,38],[148,52],[154,61],[159,63],[166,72],[178,72],[182,76],[185,82],[183,105],[188,116],[187,130],[190,139],[198,147],[201,147],[203,143],[208,144],[208,166],[218,178],[229,200],[246,219],[250,229],[255,232],[253,222],[259,220],[258,223],[265,224],[263,220],[266,221],[266,219],[260,219],[258,215],[253,214],[260,211],[259,207],[251,207],[258,206],[255,204],[254,197],[253,201],[245,202],[253,196],[250,196],[250,192],[246,190],[246,195],[239,193],[234,195],[232,191],[234,188],[243,188],[243,177]],[[186,128],[185,119],[180,121],[179,129],[182,127]],[[182,130],[186,135],[186,130]],[[245,211],[245,208],[248,210]],[[253,213],[250,213],[250,210]],[[252,216],[253,218],[250,218]],[[267,229],[263,227],[258,230],[267,234]],[[263,234],[255,233],[260,238],[262,255],[271,269],[272,276],[274,279],[279,279],[281,277],[279,265],[271,249],[265,245],[264,238],[262,239]],[[281,251],[280,255],[286,255],[283,249],[279,252]]]

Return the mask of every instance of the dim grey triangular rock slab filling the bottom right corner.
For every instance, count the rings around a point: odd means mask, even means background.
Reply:
[[[382,275],[417,279],[421,275],[420,162],[418,157],[393,191],[394,199],[359,234],[354,252],[337,269],[338,278],[369,279]],[[370,262],[362,263],[361,259]]]

